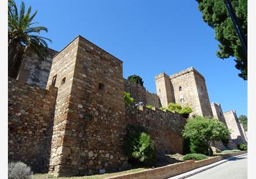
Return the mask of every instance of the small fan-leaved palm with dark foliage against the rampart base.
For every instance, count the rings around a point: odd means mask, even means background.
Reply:
[[[154,141],[142,126],[128,124],[124,138],[124,154],[130,160],[147,163],[154,160]]]

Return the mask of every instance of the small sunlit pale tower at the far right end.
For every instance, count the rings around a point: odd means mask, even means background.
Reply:
[[[229,112],[224,112],[224,117],[227,123],[227,127],[232,130],[230,134],[234,143],[245,143],[246,138],[244,137],[244,132],[236,116],[235,110],[230,110]]]

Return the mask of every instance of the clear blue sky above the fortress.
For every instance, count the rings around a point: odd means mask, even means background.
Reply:
[[[52,39],[50,48],[62,50],[82,35],[123,61],[124,78],[140,75],[154,93],[155,75],[193,66],[205,76],[211,102],[247,115],[247,81],[238,77],[234,58],[217,58],[215,32],[202,21],[195,0],[24,2],[48,27],[43,35]]]

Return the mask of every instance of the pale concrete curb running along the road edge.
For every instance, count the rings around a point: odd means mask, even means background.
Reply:
[[[241,154],[241,155],[236,155],[236,156],[233,156],[233,157],[229,157],[229,158],[226,158],[224,160],[217,161],[217,162],[212,163],[212,164],[208,164],[207,166],[203,166],[203,167],[200,167],[198,169],[194,169],[193,171],[185,172],[184,174],[176,175],[176,176],[168,178],[168,179],[183,179],[183,178],[191,177],[192,175],[195,175],[195,174],[198,174],[200,172],[206,171],[207,169],[211,169],[212,167],[218,166],[219,164],[225,163],[226,161],[232,160],[233,158],[242,157],[244,155],[247,155],[247,153],[246,154]]]

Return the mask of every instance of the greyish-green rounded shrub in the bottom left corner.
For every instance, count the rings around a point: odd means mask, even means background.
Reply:
[[[30,167],[21,161],[8,164],[8,179],[30,179],[32,175]]]

